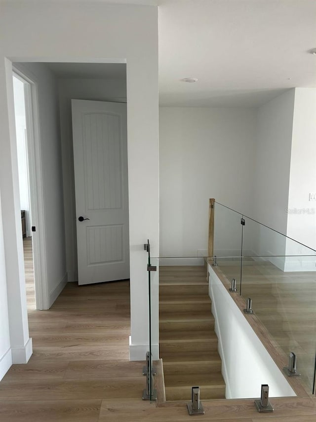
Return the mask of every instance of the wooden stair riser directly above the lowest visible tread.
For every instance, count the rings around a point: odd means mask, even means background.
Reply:
[[[168,375],[175,374],[205,374],[219,373],[222,370],[222,362],[174,362],[167,363],[163,359],[163,373]]]

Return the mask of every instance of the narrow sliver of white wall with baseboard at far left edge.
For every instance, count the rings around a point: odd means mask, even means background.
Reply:
[[[1,205],[1,200],[0,200]],[[12,365],[10,349],[9,315],[7,305],[5,256],[0,207],[0,380]]]

